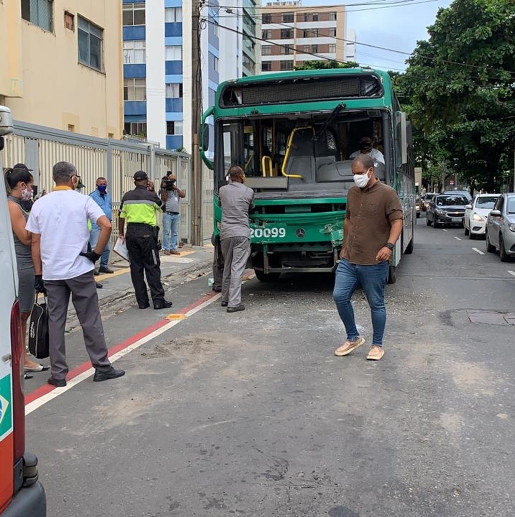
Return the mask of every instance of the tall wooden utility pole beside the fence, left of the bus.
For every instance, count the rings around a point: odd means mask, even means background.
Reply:
[[[192,244],[201,246],[202,239],[202,167],[199,134],[202,109],[202,73],[200,62],[200,2],[192,2]]]

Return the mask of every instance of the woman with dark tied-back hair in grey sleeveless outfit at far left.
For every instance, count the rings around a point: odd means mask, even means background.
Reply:
[[[28,212],[22,208],[22,201],[28,201],[32,197],[33,177],[27,169],[7,169],[5,173],[7,184],[7,196],[9,216],[14,238],[14,251],[16,251],[16,263],[18,268],[18,299],[20,302],[21,331],[22,336],[27,334],[27,320],[31,315],[35,299],[34,290],[34,266],[31,254],[31,233],[25,230]],[[34,362],[24,348],[25,372],[41,372],[48,367]]]

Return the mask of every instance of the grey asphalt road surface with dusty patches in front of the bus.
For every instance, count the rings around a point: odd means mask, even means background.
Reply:
[[[515,514],[515,262],[418,220],[377,363],[366,347],[333,355],[331,288],[249,280],[245,312],[216,301],[117,361],[122,379],[88,378],[34,410],[48,515]],[[202,278],[172,299],[206,291]],[[355,309],[370,344],[361,294]],[[111,316],[110,344],[158,317]],[[79,332],[68,340],[83,348]]]

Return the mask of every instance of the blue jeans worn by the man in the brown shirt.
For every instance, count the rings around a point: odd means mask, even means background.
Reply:
[[[363,289],[372,312],[372,328],[374,335],[372,344],[382,346],[382,336],[385,333],[386,308],[385,285],[388,278],[388,262],[372,266],[351,264],[344,258],[336,268],[333,298],[338,313],[347,331],[347,339],[355,341],[359,332],[354,322],[354,309],[350,299],[358,286]]]

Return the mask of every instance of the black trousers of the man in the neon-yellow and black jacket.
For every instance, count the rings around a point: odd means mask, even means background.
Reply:
[[[161,262],[152,226],[128,224],[125,240],[138,305],[143,307],[149,303],[143,271],[154,305],[161,305],[165,301],[165,290],[161,284]]]

